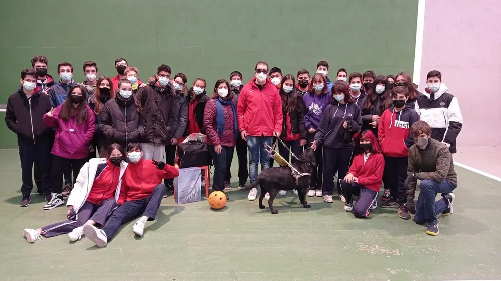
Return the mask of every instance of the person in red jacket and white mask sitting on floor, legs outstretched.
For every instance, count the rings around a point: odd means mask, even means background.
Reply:
[[[162,179],[175,178],[179,171],[174,166],[161,161],[142,159],[142,148],[138,143],[127,146],[127,157],[130,160],[125,170],[118,208],[110,216],[102,229],[93,225],[85,225],[85,236],[98,247],[104,247],[115,236],[118,228],[141,216],[134,224],[135,234],[142,236],[146,221],[155,220],[155,215],[165,193]]]

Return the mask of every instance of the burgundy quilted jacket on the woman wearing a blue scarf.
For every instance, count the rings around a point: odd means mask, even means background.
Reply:
[[[233,110],[231,105],[223,105],[224,112],[224,130],[221,138],[217,132],[216,122],[216,100],[210,99],[204,109],[204,128],[205,128],[205,142],[211,146],[221,145],[223,147],[234,147],[235,140],[235,119],[233,117]]]

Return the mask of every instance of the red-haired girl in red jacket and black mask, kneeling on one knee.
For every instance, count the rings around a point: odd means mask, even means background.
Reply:
[[[346,199],[344,210],[352,212],[357,218],[369,217],[369,210],[377,207],[376,199],[383,184],[384,157],[381,153],[376,136],[372,131],[365,130],[360,137],[359,153],[353,159],[348,174],[344,180],[339,180]],[[352,195],[358,195],[357,203],[353,205]]]

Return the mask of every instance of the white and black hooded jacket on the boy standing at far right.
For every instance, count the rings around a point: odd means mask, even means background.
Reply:
[[[417,99],[414,109],[419,119],[430,125],[431,138],[444,143],[450,153],[456,153],[456,138],[463,126],[463,115],[458,99],[447,90],[443,83],[436,93],[426,88],[423,96]]]

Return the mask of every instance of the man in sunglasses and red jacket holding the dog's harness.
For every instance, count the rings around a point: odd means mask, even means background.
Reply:
[[[272,145],[273,136],[282,131],[282,100],[277,87],[268,79],[268,63],[258,61],[254,68],[255,78],[243,86],[238,98],[238,130],[249,149],[249,177],[253,183],[258,178],[258,161],[261,171],[268,168],[270,158],[264,144]],[[253,188],[247,197],[256,200],[258,190]]]

